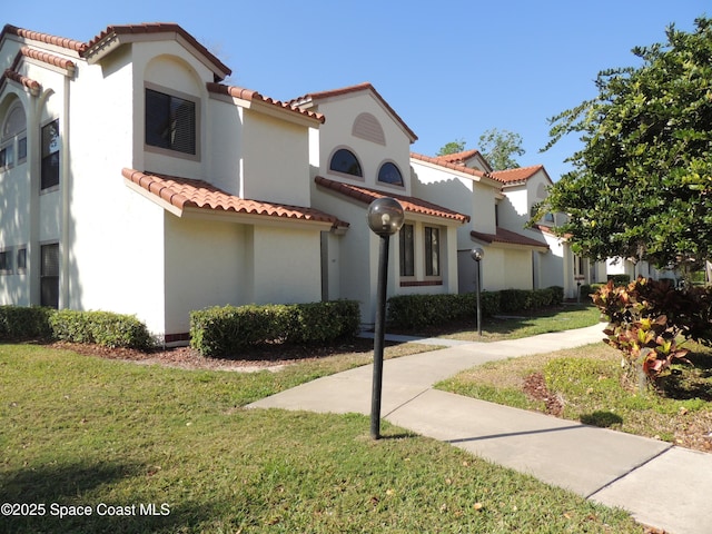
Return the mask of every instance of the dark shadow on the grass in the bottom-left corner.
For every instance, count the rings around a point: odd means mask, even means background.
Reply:
[[[7,515],[3,507],[0,520],[2,532],[176,532],[207,524],[218,515],[218,510],[222,507],[219,503],[206,505],[184,502],[174,505],[160,498],[151,503],[146,502],[145,494],[135,500],[128,497],[131,502],[96,496],[95,491],[110,495],[111,484],[125,478],[134,478],[138,484],[146,478],[150,466],[140,464],[82,463],[6,473],[0,481],[0,503],[14,503],[17,514]],[[101,486],[108,486],[109,490]],[[41,504],[43,507],[33,506]],[[83,511],[82,515],[78,515],[79,507]]]

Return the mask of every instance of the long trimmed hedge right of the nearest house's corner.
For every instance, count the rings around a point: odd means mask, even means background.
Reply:
[[[190,314],[190,346],[204,356],[230,356],[266,344],[327,343],[359,327],[354,300],[215,306]]]

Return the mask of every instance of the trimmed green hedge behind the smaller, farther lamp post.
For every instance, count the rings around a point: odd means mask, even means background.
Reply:
[[[505,289],[482,291],[482,315],[490,317],[501,313],[521,313],[560,305],[564,288]],[[459,295],[397,295],[388,299],[388,324],[395,328],[416,329],[438,326],[452,320],[474,317],[477,309],[475,293]]]

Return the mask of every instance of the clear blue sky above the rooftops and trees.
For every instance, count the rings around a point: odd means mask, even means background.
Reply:
[[[670,23],[712,17],[703,0],[312,0],[8,2],[11,23],[81,41],[110,24],[177,22],[233,70],[233,85],[289,100],[369,81],[435,155],[488,129],[523,138],[522,166],[557,180],[578,147],[548,141],[547,119],[596,95],[599,71],[637,65],[631,49]],[[328,120],[328,117],[327,117]]]

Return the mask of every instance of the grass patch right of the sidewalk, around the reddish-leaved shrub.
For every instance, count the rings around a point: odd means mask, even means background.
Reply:
[[[712,451],[712,349],[690,344],[693,366],[674,365],[657,384],[660,394],[623,379],[621,353],[601,344],[491,362],[436,385],[459,395],[545,412],[525,393],[541,374],[558,400],[561,417]]]

